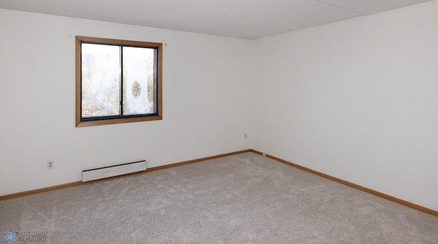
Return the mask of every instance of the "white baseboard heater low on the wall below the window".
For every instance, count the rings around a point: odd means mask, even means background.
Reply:
[[[92,180],[100,180],[118,175],[126,175],[127,173],[135,173],[145,171],[146,160],[138,162],[128,162],[127,164],[118,164],[114,166],[102,167],[99,169],[88,169],[82,171],[82,182],[90,182]]]

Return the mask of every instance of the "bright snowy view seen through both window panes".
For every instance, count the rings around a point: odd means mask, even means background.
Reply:
[[[82,117],[156,112],[155,49],[82,43],[81,57]]]

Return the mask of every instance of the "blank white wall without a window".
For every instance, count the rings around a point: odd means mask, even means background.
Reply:
[[[255,40],[254,149],[438,210],[437,13]]]

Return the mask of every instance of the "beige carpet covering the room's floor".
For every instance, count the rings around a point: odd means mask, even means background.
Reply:
[[[438,217],[245,153],[3,200],[7,231],[46,232],[40,243],[411,244],[438,243]]]

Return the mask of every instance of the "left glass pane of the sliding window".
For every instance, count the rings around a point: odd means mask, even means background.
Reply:
[[[120,115],[120,47],[81,44],[82,117]]]

